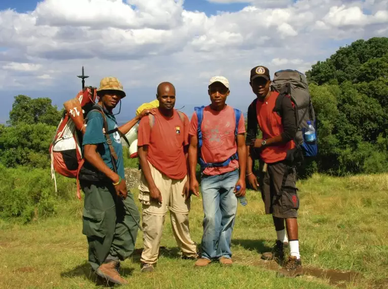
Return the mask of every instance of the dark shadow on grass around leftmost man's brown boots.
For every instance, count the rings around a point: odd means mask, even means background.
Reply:
[[[128,275],[131,275],[134,271],[133,268],[120,268],[120,275],[124,278]],[[95,283],[96,286],[104,286],[104,287],[113,287],[114,284],[105,280],[104,278],[101,278],[94,274],[92,267],[88,262],[84,262],[81,265],[78,265],[77,267],[73,268],[72,270],[69,270],[67,272],[62,272],[61,277],[62,278],[74,278],[79,276],[85,276],[87,279],[89,279],[91,282]]]

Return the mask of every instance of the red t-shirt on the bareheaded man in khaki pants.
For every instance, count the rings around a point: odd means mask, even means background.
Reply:
[[[140,121],[137,146],[148,146],[148,161],[160,172],[172,179],[187,175],[184,146],[189,144],[189,119],[182,123],[177,111],[171,118],[155,110],[155,122],[151,129],[149,117]]]

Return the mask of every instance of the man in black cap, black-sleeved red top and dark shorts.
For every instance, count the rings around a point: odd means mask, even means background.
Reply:
[[[281,103],[281,117],[274,112],[276,98],[279,95],[271,91],[269,70],[256,66],[251,70],[250,81],[257,98],[248,108],[248,129],[246,146],[248,157],[246,175],[250,185],[257,190],[258,181],[253,173],[253,160],[260,160],[260,189],[265,212],[272,214],[277,234],[271,252],[265,252],[263,259],[276,259],[283,263],[285,245],[290,244],[290,257],[280,270],[281,276],[296,277],[302,274],[299,254],[297,211],[299,198],[296,188],[295,166],[287,160],[287,154],[295,148],[296,134],[295,111],[290,97],[284,97]],[[257,128],[263,134],[256,139]],[[287,228],[287,236],[285,230]]]

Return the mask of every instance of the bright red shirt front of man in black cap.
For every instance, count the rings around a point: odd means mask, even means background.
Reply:
[[[278,92],[273,91],[267,101],[258,99],[256,102],[257,122],[263,133],[263,139],[278,136],[283,132],[281,118],[273,111],[278,95]],[[268,146],[261,151],[260,157],[269,164],[283,161],[286,159],[287,151],[293,148],[295,148],[293,140],[279,146]]]

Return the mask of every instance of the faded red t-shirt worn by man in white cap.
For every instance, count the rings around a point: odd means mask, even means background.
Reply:
[[[222,111],[214,111],[210,106],[203,110],[201,124],[202,148],[201,157],[205,163],[217,163],[226,161],[237,152],[237,143],[234,137],[236,119],[233,107],[227,105]],[[190,123],[190,135],[197,135],[198,119],[193,114]],[[238,122],[237,133],[245,133],[244,117],[241,114]],[[237,169],[238,160],[233,160],[226,167],[205,168],[203,173],[218,175]]]

